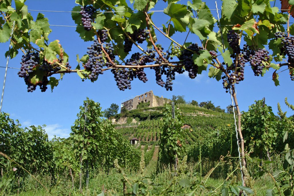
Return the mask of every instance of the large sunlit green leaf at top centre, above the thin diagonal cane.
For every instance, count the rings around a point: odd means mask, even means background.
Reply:
[[[189,23],[189,12],[186,5],[170,3],[163,11],[171,17],[176,31],[185,32]]]

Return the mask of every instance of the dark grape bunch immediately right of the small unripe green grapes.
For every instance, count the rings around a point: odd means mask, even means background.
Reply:
[[[198,66],[194,64],[192,56],[194,53],[199,53],[199,51],[203,50],[203,48],[199,47],[197,43],[192,43],[187,48],[193,52],[184,49],[182,50],[181,56],[178,58],[183,62],[182,64],[184,65],[185,70],[188,71],[189,77],[194,79],[198,73]]]

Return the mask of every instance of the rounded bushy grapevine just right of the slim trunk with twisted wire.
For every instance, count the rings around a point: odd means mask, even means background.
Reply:
[[[255,101],[255,104],[249,106],[248,112],[242,115],[245,144],[250,146],[255,154],[271,150],[278,136],[276,126],[277,119],[272,108],[262,100]]]

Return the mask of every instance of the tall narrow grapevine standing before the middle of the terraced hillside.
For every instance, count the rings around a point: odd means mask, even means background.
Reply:
[[[171,105],[165,105],[163,110],[163,124],[160,127],[161,138],[159,140],[159,163],[171,165],[175,163],[176,157],[182,157],[185,154],[183,144],[183,135],[181,126],[180,111],[175,108],[175,118],[172,118]]]

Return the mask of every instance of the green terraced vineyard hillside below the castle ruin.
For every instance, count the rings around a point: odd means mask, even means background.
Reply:
[[[191,125],[191,129],[183,130],[187,144],[193,144],[199,139],[199,134],[208,137],[218,135],[228,125],[233,123],[233,115],[190,105],[178,104],[183,116],[183,124]],[[125,138],[136,137],[141,145],[152,145],[160,139],[160,125],[163,117],[163,107],[141,108],[129,111],[127,123],[115,124]],[[136,123],[130,123],[136,119]],[[202,134],[201,134],[202,133]],[[205,134],[204,134],[205,133]],[[210,133],[210,134],[207,134]]]

